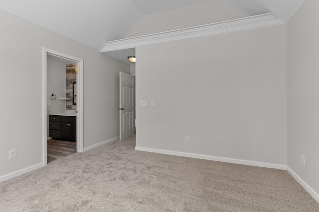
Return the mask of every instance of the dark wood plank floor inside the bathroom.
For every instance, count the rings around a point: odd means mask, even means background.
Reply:
[[[65,157],[76,152],[76,142],[47,140],[46,141],[47,163]]]

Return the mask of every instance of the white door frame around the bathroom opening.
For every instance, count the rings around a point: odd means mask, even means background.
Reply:
[[[83,141],[83,60],[57,52],[51,49],[43,47],[43,83],[42,83],[42,161],[43,166],[47,165],[47,152],[46,152],[46,141],[47,141],[47,54],[54,55],[56,57],[75,61],[77,64],[76,74],[76,90],[77,90],[77,103],[76,103],[76,151],[83,152],[84,141]]]

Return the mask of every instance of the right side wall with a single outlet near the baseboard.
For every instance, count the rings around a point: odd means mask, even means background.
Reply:
[[[287,24],[288,166],[319,201],[319,1],[307,0]],[[305,166],[301,164],[305,155]]]

